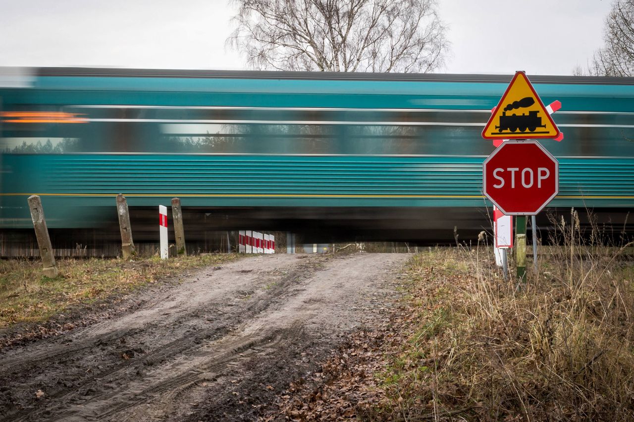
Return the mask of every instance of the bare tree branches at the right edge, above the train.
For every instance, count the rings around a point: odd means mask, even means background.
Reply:
[[[605,18],[604,47],[594,54],[588,73],[634,76],[634,0],[616,0],[612,4]]]

